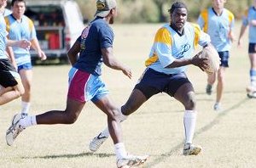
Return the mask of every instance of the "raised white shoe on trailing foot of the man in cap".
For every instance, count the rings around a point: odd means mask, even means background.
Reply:
[[[6,132],[6,143],[9,146],[12,146],[15,138],[22,132],[25,128],[20,126],[20,119],[22,118],[21,114],[16,114],[12,120],[11,126]]]

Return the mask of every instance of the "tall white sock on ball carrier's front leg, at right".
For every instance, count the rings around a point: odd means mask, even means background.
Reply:
[[[185,128],[185,143],[192,143],[195,133],[196,111],[185,110],[183,123]]]

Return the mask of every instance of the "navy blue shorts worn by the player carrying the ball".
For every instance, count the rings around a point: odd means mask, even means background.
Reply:
[[[159,92],[166,92],[173,97],[177,89],[188,82],[191,83],[185,73],[168,75],[148,68],[144,71],[135,89],[143,92],[146,98]]]

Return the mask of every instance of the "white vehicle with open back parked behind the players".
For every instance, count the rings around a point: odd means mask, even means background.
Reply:
[[[67,60],[67,51],[84,29],[73,0],[26,0],[26,16],[33,20],[38,41],[48,59]],[[38,58],[32,51],[32,61]]]

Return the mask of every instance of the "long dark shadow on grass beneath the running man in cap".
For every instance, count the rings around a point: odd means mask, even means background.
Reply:
[[[35,156],[35,157],[22,157],[21,159],[27,160],[27,159],[59,159],[59,158],[79,158],[79,157],[90,157],[90,156],[96,156],[99,158],[108,158],[111,156],[115,156],[115,154],[94,154],[91,152],[85,152],[81,154],[56,154],[56,155],[46,155],[46,156]]]

